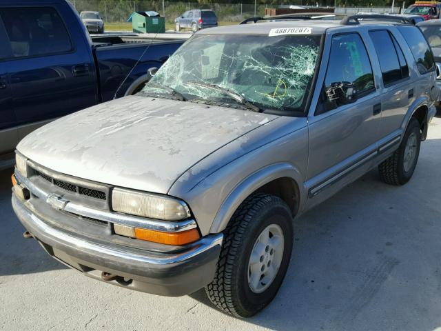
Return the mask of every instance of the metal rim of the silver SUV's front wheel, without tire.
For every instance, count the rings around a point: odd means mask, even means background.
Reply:
[[[268,225],[260,232],[248,261],[248,285],[254,293],[265,291],[274,281],[282,263],[285,239],[282,228]]]

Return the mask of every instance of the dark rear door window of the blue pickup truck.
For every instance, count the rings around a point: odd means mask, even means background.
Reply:
[[[4,8],[1,19],[12,57],[33,57],[72,50],[69,34],[54,8]]]

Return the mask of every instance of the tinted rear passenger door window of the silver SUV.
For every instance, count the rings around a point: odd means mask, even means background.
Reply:
[[[384,86],[409,77],[409,68],[395,38],[387,30],[370,31],[369,35],[380,62]]]

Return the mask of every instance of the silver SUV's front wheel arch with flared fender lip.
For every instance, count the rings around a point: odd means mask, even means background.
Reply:
[[[265,192],[280,197],[295,216],[303,202],[299,183],[301,183],[300,172],[289,163],[276,163],[254,172],[227,195],[216,213],[209,232],[223,231],[239,205],[254,192]]]

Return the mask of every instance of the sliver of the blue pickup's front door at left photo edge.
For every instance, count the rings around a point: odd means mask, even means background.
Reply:
[[[19,136],[17,119],[12,108],[10,84],[8,82],[8,66],[6,59],[11,49],[6,42],[6,30],[0,19],[0,154],[14,150]]]

